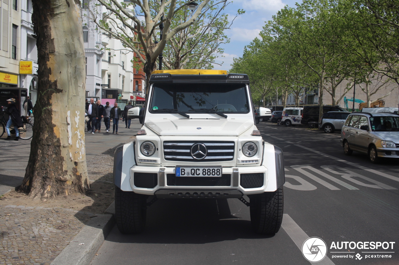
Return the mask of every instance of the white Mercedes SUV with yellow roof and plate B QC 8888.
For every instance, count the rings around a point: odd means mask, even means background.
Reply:
[[[270,117],[259,108],[259,117]],[[140,233],[156,199],[237,198],[250,207],[255,232],[279,231],[284,161],[255,125],[246,74],[159,70],[144,111],[128,111],[142,128],[114,160],[115,218],[122,233]],[[249,202],[243,195],[249,197]]]

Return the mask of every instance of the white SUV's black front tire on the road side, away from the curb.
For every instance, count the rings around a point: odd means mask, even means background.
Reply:
[[[279,232],[284,206],[282,187],[273,192],[249,195],[252,230],[258,234]]]

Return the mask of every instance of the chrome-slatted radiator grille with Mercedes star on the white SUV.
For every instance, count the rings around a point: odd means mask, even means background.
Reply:
[[[201,153],[194,158],[193,153]],[[206,148],[206,152],[204,151]],[[201,158],[201,154],[205,157]],[[198,158],[200,157],[200,158]],[[231,141],[164,141],[164,158],[169,161],[212,162],[230,161],[234,158],[234,142]]]

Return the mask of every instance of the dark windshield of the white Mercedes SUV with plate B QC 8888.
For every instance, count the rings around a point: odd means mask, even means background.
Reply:
[[[248,113],[244,84],[154,84],[150,112],[174,109],[184,113],[208,110],[221,113]]]

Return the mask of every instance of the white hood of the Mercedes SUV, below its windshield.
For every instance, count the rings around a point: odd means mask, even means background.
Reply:
[[[239,136],[254,126],[253,119],[148,119],[144,126],[158,135]],[[201,128],[201,129],[197,129]]]

